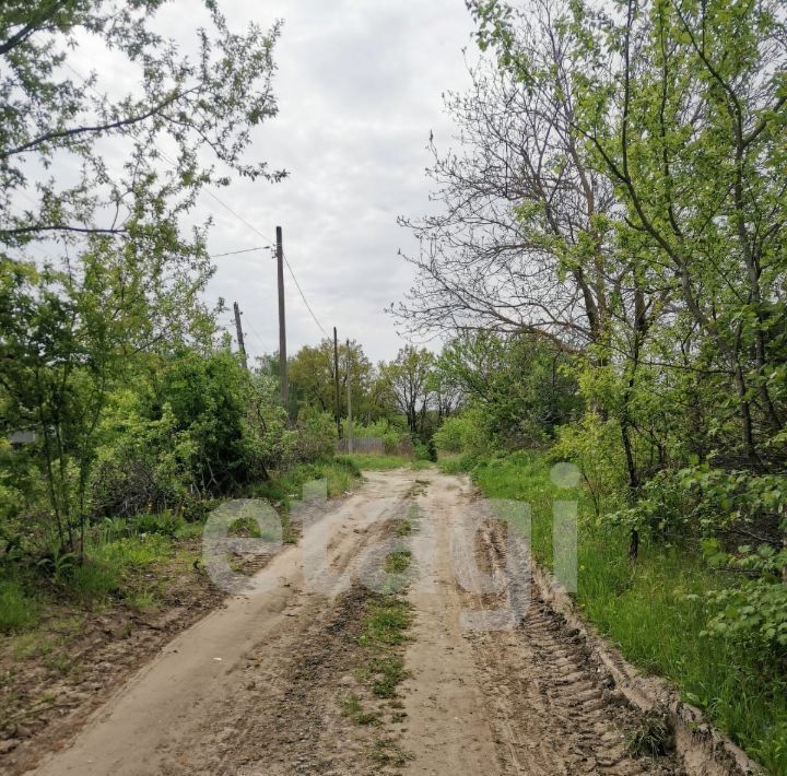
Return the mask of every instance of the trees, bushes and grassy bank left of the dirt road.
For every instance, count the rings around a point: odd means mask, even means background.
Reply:
[[[216,605],[200,541],[222,502],[268,499],[295,542],[306,482],[341,497],[357,463],[375,468],[334,455],[348,379],[356,438],[400,456],[380,466],[434,457],[426,351],[373,365],[351,342],[337,376],[332,343],[303,348],[282,407],[277,354],[247,365],[222,328],[195,205],[237,177],[286,177],[250,150],[277,115],[280,25],[235,30],[208,3],[187,56],[157,32],[162,4],[0,9],[3,753],[86,704],[78,684],[121,681]],[[87,39],[122,84],[72,67]]]

